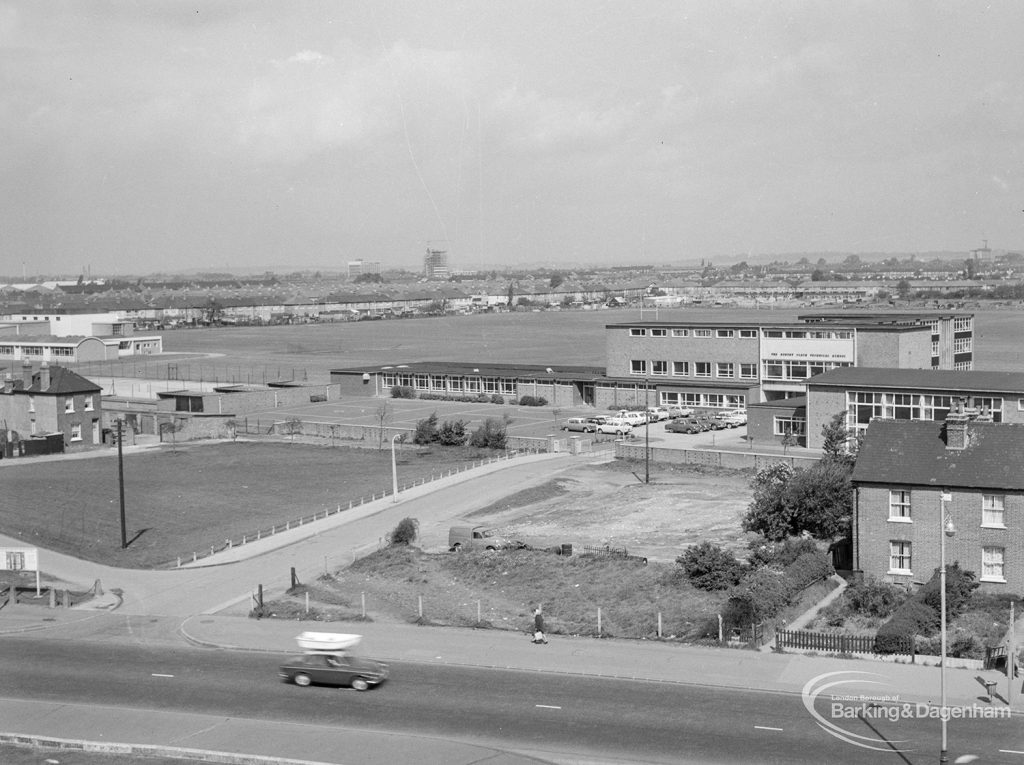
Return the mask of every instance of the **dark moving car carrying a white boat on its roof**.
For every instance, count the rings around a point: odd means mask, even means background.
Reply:
[[[302,687],[334,685],[368,690],[384,682],[390,672],[382,662],[350,653],[361,639],[360,635],[304,632],[296,640],[306,651],[281,665],[278,675]]]

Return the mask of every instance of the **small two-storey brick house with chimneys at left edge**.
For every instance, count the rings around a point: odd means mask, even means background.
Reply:
[[[0,389],[0,431],[4,440],[60,433],[67,449],[102,443],[102,388],[63,367],[45,362],[33,373],[26,363],[22,376],[9,373]]]

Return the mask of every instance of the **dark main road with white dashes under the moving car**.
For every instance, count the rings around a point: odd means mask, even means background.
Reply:
[[[392,680],[357,693],[280,682],[280,658],[70,640],[0,642],[7,698],[88,705],[115,716],[119,708],[204,715],[211,728],[227,719],[301,725],[308,740],[295,741],[289,756],[315,750],[327,731],[336,739],[339,726],[400,733],[407,747],[420,737],[442,738],[560,762],[915,764],[936,754],[937,721],[851,725],[911,750],[883,754],[825,734],[793,694],[417,664],[392,665]],[[983,762],[1024,762],[998,752],[1020,749],[1019,721],[954,726],[956,751]],[[238,748],[244,751],[244,741]]]

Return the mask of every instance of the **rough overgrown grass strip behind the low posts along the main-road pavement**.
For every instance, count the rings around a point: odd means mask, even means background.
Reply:
[[[559,556],[521,550],[508,553],[436,553],[389,547],[304,583],[267,604],[278,618],[418,621],[432,625],[527,631],[531,609],[543,604],[548,632],[605,637],[653,638],[660,611],[663,635],[698,640],[717,634],[715,618],[723,593],[692,588],[674,563],[608,556]],[[305,611],[309,593],[310,611]],[[477,601],[480,621],[477,622]]]

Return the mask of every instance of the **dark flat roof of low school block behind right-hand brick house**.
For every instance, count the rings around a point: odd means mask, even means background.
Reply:
[[[840,367],[810,379],[808,385],[820,387],[912,388],[914,390],[1021,393],[1024,373],[973,372],[954,370],[900,370],[879,367]]]

